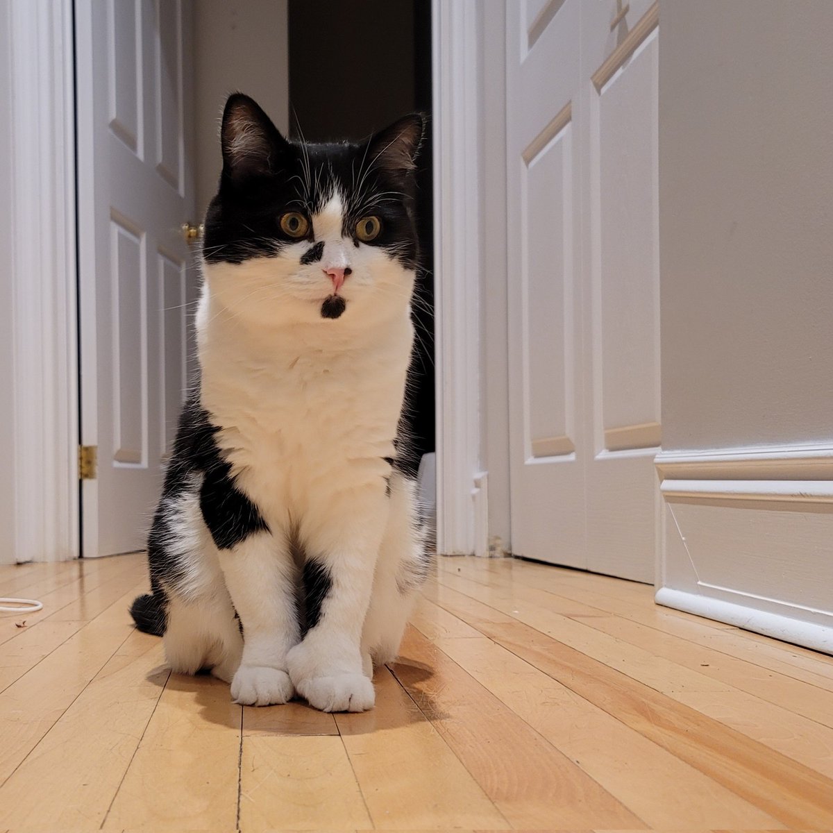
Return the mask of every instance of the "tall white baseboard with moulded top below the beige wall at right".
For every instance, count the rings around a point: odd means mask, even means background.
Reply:
[[[833,653],[833,446],[656,456],[656,601]]]

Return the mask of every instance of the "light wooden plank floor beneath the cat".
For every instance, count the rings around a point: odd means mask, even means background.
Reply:
[[[0,831],[833,828],[833,658],[646,586],[443,559],[377,707],[332,716],[172,676],[144,569],[0,567],[44,604],[0,615]]]

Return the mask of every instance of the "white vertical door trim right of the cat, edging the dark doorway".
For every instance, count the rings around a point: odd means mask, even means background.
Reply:
[[[480,103],[476,0],[432,0],[436,546],[469,555],[480,469]],[[478,511],[480,524],[487,513]]]

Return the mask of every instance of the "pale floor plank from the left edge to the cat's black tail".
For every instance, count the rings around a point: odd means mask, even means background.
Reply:
[[[0,694],[0,784],[132,633],[128,591]]]

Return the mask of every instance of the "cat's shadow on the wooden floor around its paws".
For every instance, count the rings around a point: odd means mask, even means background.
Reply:
[[[434,672],[416,660],[402,657],[391,667],[377,669],[373,676],[377,686],[377,705],[370,711],[358,714],[339,714],[337,731],[345,735],[364,735],[375,731],[412,726],[421,721],[440,720],[444,715],[431,697],[431,681]],[[164,688],[157,710],[167,711],[167,718],[193,720],[188,716],[193,706],[198,708],[201,721],[214,726],[227,726],[240,731],[240,706],[232,703],[228,684],[210,674],[168,673],[167,666],[157,666],[147,673],[146,679],[154,686]],[[327,729],[330,716],[308,706],[303,700],[293,700],[287,706],[245,706],[251,720],[243,716],[243,726],[251,722],[258,734],[268,733],[272,727],[276,735],[317,736],[333,734]],[[166,719],[167,719],[166,718]]]

